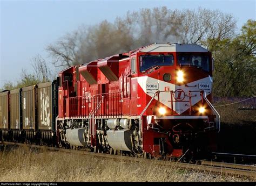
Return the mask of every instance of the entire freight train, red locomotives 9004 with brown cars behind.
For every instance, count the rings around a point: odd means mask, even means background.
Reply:
[[[196,44],[152,44],[69,67],[51,85],[22,88],[19,131],[30,143],[198,158],[220,130],[212,71],[211,53]],[[0,94],[4,104],[9,94]],[[1,116],[5,140],[10,121]]]

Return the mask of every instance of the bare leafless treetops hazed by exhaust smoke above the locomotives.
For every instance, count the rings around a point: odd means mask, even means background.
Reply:
[[[198,43],[214,51],[232,37],[236,21],[219,10],[170,10],[166,6],[127,12],[114,23],[79,27],[46,47],[55,67],[65,68],[127,52],[153,42]]]

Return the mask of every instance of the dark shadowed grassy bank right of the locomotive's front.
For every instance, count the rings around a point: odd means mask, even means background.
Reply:
[[[232,102],[219,102],[218,105]],[[217,107],[220,114],[218,152],[256,154],[256,110],[238,110],[240,103]]]

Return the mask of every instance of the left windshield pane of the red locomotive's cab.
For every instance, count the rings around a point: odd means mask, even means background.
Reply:
[[[142,55],[140,56],[140,71],[145,71],[157,66],[173,65],[172,55]]]

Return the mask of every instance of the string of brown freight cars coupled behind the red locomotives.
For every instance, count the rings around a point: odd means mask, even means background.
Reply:
[[[1,92],[1,139],[56,144],[57,92],[57,81]]]

